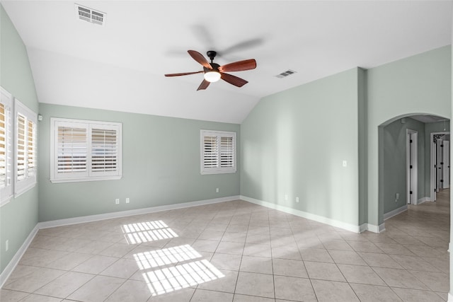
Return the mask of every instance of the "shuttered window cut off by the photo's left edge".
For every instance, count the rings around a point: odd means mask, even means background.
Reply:
[[[6,204],[13,196],[13,97],[4,88],[0,89],[0,205]]]

